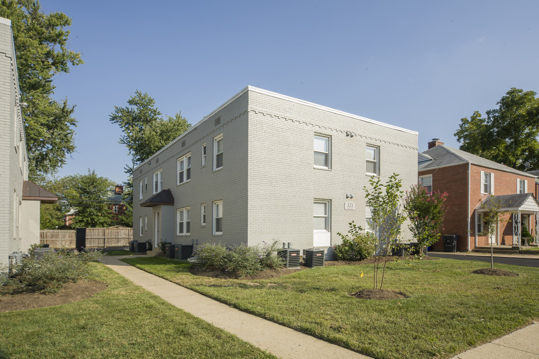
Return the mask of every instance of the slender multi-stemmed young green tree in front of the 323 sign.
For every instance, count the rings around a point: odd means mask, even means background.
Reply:
[[[396,244],[400,243],[400,226],[406,219],[404,213],[400,210],[400,200],[404,191],[401,180],[397,178],[398,174],[393,173],[385,184],[382,184],[379,178],[372,176],[369,179],[370,187],[364,187],[367,206],[370,207],[372,222],[378,240],[375,242],[375,264],[373,288],[378,288],[378,270],[381,263],[382,279],[379,289],[384,285],[385,268],[388,263],[388,256]]]

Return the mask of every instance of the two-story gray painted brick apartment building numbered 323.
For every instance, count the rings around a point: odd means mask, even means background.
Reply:
[[[134,239],[327,248],[367,227],[371,175],[417,184],[417,149],[415,131],[248,86],[135,168]]]

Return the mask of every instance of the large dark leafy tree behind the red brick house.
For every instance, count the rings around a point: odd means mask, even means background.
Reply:
[[[487,110],[462,118],[455,132],[460,149],[506,166],[525,170],[539,168],[539,98],[534,91],[511,88]]]

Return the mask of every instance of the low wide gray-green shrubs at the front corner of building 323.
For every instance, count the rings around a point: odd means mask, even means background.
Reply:
[[[264,245],[241,244],[231,248],[226,248],[224,244],[208,243],[199,246],[194,255],[201,268],[215,267],[244,277],[281,267],[283,262],[277,256],[277,249],[277,241],[269,245],[264,242]]]

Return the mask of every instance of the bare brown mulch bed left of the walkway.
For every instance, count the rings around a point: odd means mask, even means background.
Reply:
[[[0,313],[72,303],[92,297],[106,288],[107,285],[100,281],[83,280],[77,283],[67,283],[58,293],[3,294],[0,297]]]

